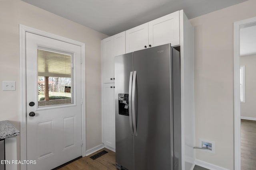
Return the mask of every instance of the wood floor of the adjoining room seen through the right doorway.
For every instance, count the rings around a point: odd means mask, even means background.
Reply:
[[[256,170],[256,121],[241,119],[241,170]]]

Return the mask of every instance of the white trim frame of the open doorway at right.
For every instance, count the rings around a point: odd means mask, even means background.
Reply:
[[[240,110],[240,25],[256,22],[256,17],[234,22],[234,166],[241,168]]]

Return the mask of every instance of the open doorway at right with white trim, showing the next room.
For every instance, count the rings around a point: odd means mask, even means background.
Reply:
[[[256,18],[234,23],[234,165],[235,170],[255,168],[256,152],[251,152],[256,137],[253,76],[256,64]],[[255,59],[255,61],[254,61]],[[256,78],[256,77],[255,77]],[[252,168],[253,169],[253,168]]]

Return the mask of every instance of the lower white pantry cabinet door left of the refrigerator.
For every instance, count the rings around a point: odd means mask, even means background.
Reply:
[[[103,142],[115,149],[114,83],[103,84]]]

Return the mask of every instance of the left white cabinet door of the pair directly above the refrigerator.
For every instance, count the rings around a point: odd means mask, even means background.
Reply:
[[[145,49],[148,47],[148,23],[144,23],[125,31],[126,53]]]

